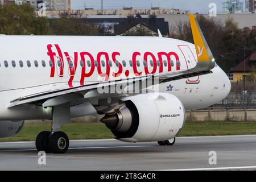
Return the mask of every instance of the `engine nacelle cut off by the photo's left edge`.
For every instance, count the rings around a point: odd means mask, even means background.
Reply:
[[[18,134],[24,121],[0,121],[0,138],[13,137]]]

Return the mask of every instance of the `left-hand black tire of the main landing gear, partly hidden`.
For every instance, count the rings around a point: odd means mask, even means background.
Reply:
[[[49,131],[42,131],[36,137],[36,149],[38,151],[44,151],[46,153],[50,153],[51,149],[48,147],[49,136],[51,132]]]

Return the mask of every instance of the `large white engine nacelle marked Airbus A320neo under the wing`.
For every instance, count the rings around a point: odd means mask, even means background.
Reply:
[[[123,142],[153,142],[174,138],[182,129],[185,109],[170,93],[148,93],[123,99],[117,114],[105,115],[105,123]]]

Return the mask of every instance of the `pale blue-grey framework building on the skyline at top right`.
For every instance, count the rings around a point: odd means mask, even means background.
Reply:
[[[240,0],[227,0],[222,3],[222,12],[223,13],[242,13],[243,12],[243,3]]]

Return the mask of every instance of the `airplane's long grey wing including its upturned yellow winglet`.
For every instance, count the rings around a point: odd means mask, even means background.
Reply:
[[[211,69],[214,68],[215,60],[213,58],[212,52],[204,38],[203,32],[199,27],[196,20],[196,16],[189,14],[189,21],[191,23],[193,40],[195,42],[195,48],[198,55],[197,65],[192,69],[185,69],[181,71],[167,72],[167,73],[156,73],[155,75],[147,75],[142,77],[130,78],[120,81],[109,81],[100,82],[93,85],[79,86],[76,88],[70,88],[65,90],[58,90],[55,92],[49,92],[44,94],[38,94],[34,96],[18,98],[11,101],[9,107],[14,107],[22,104],[31,104],[35,102],[42,103],[44,107],[52,107],[56,105],[65,104],[75,100],[90,99],[90,98],[113,98],[113,97],[125,97],[129,95],[129,92],[121,93],[99,93],[98,89],[102,87],[111,87],[116,85],[129,85],[122,88],[122,91],[127,91],[133,88],[133,85],[137,82],[148,81],[148,80],[158,80],[155,84],[161,82],[168,82],[172,80],[179,80],[182,78],[194,77],[199,75],[205,75],[211,73]],[[154,82],[153,82],[154,84]],[[145,88],[140,88],[145,89]]]

